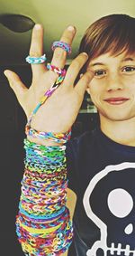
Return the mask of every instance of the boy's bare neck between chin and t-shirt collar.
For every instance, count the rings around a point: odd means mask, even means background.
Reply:
[[[101,130],[113,141],[135,147],[135,119],[124,121],[101,119]]]

